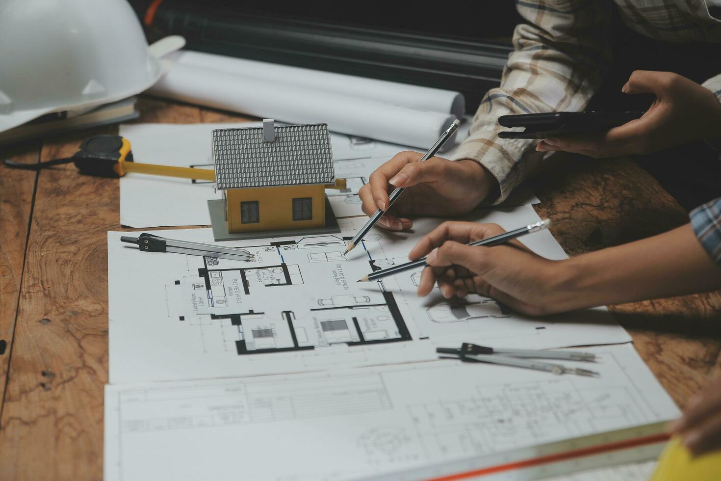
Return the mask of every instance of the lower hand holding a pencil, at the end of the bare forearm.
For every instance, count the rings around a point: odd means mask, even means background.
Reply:
[[[503,232],[497,224],[444,222],[420,239],[408,256],[428,256],[418,295],[428,296],[438,281],[446,299],[477,293],[531,315],[575,309],[578,296],[567,288],[565,261],[544,259],[517,240],[494,247],[464,245]]]

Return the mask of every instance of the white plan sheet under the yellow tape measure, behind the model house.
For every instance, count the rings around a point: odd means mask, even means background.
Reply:
[[[466,133],[468,124],[461,126]],[[120,135],[131,142],[136,162],[213,169],[211,132],[253,125],[260,123],[132,124],[120,125]],[[415,150],[340,133],[331,133],[330,138],[336,177],[348,180],[347,190],[326,190],[336,217],[363,216],[358,190],[371,173],[399,151]],[[127,174],[120,179],[120,224],[141,228],[209,225],[207,201],[219,198],[214,182]],[[532,203],[539,200],[521,185],[505,205]]]

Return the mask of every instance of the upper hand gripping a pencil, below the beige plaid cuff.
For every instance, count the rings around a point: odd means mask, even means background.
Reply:
[[[372,216],[385,211],[378,224],[396,231],[410,229],[409,216],[457,216],[477,206],[496,182],[490,172],[474,160],[452,162],[431,157],[418,162],[423,154],[404,151],[376,169],[358,195],[363,212]],[[389,190],[407,190],[389,208]]]

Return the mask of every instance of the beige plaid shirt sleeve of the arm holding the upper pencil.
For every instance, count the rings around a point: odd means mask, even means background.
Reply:
[[[516,0],[528,23],[513,34],[499,88],[481,101],[454,160],[473,159],[497,179],[500,203],[541,159],[530,139],[500,139],[500,115],[583,110],[611,62],[609,4],[596,0]],[[491,200],[491,199],[489,199]]]

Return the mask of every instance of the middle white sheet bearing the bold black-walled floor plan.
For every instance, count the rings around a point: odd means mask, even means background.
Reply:
[[[531,206],[477,211],[468,219],[505,229],[539,220]],[[363,220],[341,219],[342,234],[335,236],[221,243],[251,250],[252,262],[140,252],[120,243],[127,233],[109,232],[110,381],[419,361],[435,358],[437,343],[462,341],[557,348],[630,340],[606,309],[531,319],[477,295],[419,299],[413,272],[356,283],[371,268],[404,260],[441,222],[419,219],[404,233],[373,229],[346,259],[345,244]],[[212,242],[211,229],[156,234]],[[565,257],[548,231],[522,242],[544,257]]]

